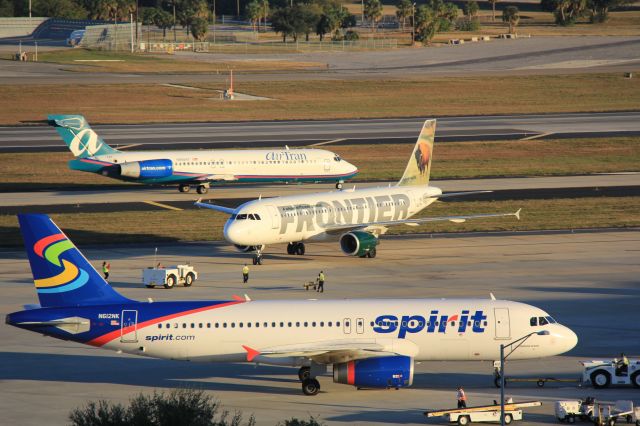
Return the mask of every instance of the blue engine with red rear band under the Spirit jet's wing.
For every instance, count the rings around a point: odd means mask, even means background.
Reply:
[[[413,358],[385,356],[333,365],[334,383],[363,388],[403,388],[413,384]]]

